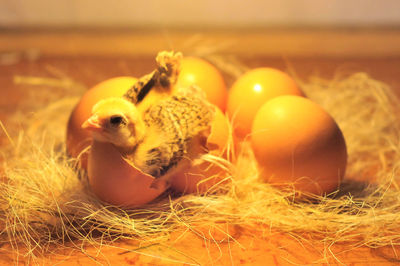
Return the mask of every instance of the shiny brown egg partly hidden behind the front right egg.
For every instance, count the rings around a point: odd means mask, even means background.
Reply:
[[[235,134],[246,137],[258,109],[268,100],[287,94],[304,96],[295,81],[278,69],[255,68],[239,77],[229,90],[227,105]]]

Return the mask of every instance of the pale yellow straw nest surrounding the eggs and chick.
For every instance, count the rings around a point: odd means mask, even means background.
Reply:
[[[84,249],[82,243],[112,245],[118,239],[163,242],[174,230],[219,222],[261,225],[294,236],[309,233],[326,246],[400,245],[400,105],[386,84],[365,73],[299,81],[307,96],[336,119],[348,145],[346,178],[335,193],[293,200],[290,192],[258,181],[256,162],[246,152],[236,154],[237,163],[229,165],[232,182],[222,189],[200,196],[165,193],[131,210],[103,204],[78,178],[83,173],[64,152],[64,128],[84,88],[53,83],[53,91],[57,86],[75,90],[69,90],[69,98],[54,96],[46,107],[43,103],[56,93],[35,92],[25,106],[38,106],[21,109],[3,127],[10,144],[2,150],[0,241],[21,255],[34,259],[57,247]],[[34,115],[28,115],[31,110]]]

